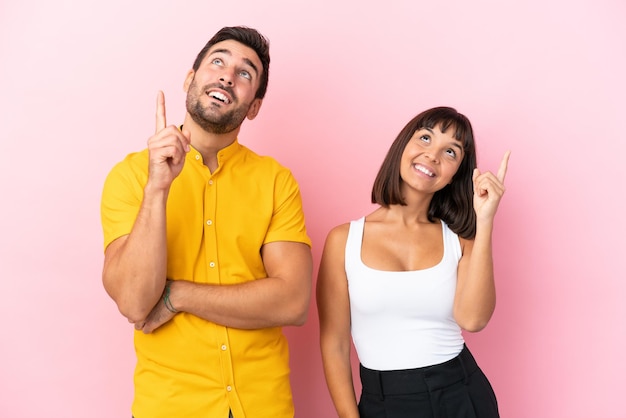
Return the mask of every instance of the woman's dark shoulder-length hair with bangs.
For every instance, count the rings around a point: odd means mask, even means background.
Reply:
[[[469,119],[451,107],[435,107],[415,116],[400,131],[387,152],[374,186],[372,203],[383,207],[406,205],[401,193],[402,178],[400,162],[402,153],[415,131],[422,128],[439,127],[441,132],[454,131],[454,138],[463,144],[464,157],[452,183],[437,191],[430,207],[428,220],[443,220],[457,235],[471,239],[476,234],[476,213],[473,204],[472,173],[476,168],[476,144],[474,131]]]

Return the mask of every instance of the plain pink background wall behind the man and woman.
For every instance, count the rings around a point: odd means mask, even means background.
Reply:
[[[498,307],[467,335],[502,416],[626,417],[625,12],[620,0],[2,0],[0,416],[130,416],[132,328],[100,280],[102,183],[145,146],[156,91],[181,122],[196,53],[245,24],[270,38],[272,68],[241,142],[292,168],[316,266],[328,230],[372,209],[400,128],[454,106],[480,167],[512,150]],[[308,323],[286,329],[299,418],[333,416],[317,331],[312,300]]]

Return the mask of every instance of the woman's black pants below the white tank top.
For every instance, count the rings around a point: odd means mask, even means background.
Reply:
[[[498,403],[467,347],[450,361],[418,369],[360,366],[361,418],[499,418]]]

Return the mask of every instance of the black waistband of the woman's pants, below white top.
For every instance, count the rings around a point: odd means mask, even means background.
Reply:
[[[445,363],[417,369],[378,371],[360,365],[363,391],[373,395],[407,395],[430,392],[464,381],[478,369],[467,346]]]

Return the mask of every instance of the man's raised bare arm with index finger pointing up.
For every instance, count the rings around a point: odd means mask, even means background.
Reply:
[[[102,281],[107,293],[130,322],[143,321],[160,298],[167,274],[165,208],[172,181],[189,151],[188,133],[166,126],[165,98],[157,96],[156,133],[148,140],[148,181],[129,235],[105,251]]]

